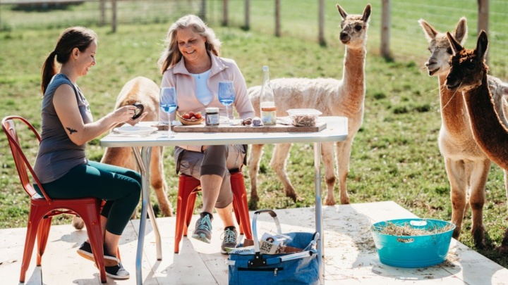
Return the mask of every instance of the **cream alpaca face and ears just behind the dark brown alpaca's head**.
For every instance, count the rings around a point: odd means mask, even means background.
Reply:
[[[428,51],[430,51],[430,57],[425,63],[425,67],[428,70],[428,75],[447,75],[449,71],[448,60],[449,57],[452,56],[452,48],[448,42],[447,35],[444,32],[438,32],[433,26],[431,26],[423,19],[418,20],[418,23],[420,23],[423,32],[425,33],[425,38],[429,43]],[[461,44],[466,42],[466,18],[462,17],[459,20],[459,23],[457,23],[454,31],[454,37],[459,42],[461,42]]]

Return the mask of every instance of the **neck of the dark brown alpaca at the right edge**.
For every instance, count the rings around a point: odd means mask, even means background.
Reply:
[[[476,143],[490,160],[508,170],[508,130],[497,117],[488,89],[487,72],[480,86],[464,92],[464,99]]]

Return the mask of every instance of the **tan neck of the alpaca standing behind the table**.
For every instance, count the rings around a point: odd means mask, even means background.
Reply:
[[[365,96],[365,46],[361,49],[351,49],[346,46],[344,68],[342,75],[342,94],[349,94],[348,108],[350,110],[363,107]],[[346,99],[346,101],[348,100]]]

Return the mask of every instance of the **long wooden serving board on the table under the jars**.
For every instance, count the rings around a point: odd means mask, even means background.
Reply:
[[[326,122],[317,122],[314,127],[295,127],[294,125],[277,125],[252,127],[243,125],[207,126],[204,123],[200,125],[179,125],[171,126],[174,132],[320,132],[326,128]]]

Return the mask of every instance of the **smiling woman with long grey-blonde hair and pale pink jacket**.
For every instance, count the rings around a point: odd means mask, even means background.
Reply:
[[[232,81],[236,90],[234,107],[240,118],[252,118],[254,109],[248,99],[247,86],[235,61],[219,57],[221,42],[198,16],[185,15],[169,27],[167,47],[159,58],[161,87],[175,87],[179,113],[205,113],[205,108],[226,108],[219,102],[219,82]],[[174,120],[159,111],[160,120]],[[231,215],[233,194],[229,170],[241,170],[246,145],[176,146],[177,172],[191,175],[201,182],[202,210],[193,238],[206,243],[212,239],[212,212],[215,208],[224,224],[221,252],[234,248],[238,234]]]

